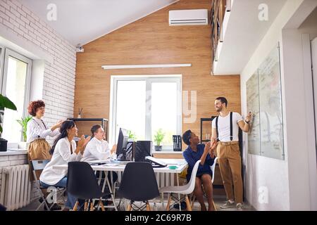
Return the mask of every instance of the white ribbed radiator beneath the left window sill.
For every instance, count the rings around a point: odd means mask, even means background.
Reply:
[[[11,211],[30,204],[30,199],[29,165],[2,167],[0,203]]]

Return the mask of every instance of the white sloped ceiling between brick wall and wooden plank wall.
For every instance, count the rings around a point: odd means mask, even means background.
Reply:
[[[87,44],[176,0],[19,0],[74,46]],[[56,4],[57,20],[46,15]],[[166,19],[168,23],[168,19]]]

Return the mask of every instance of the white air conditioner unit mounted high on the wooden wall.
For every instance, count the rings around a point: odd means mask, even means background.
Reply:
[[[189,9],[169,11],[170,26],[177,25],[208,25],[207,9]]]

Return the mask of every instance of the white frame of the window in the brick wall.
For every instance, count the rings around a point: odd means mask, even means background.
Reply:
[[[32,59],[27,58],[20,53],[13,51],[11,49],[7,49],[3,46],[0,46],[0,93],[5,96],[6,95],[6,81],[8,79],[8,58],[11,56],[17,60],[23,61],[27,64],[27,72],[25,75],[25,92],[24,92],[24,103],[23,103],[23,118],[25,118],[27,114],[27,104],[30,101],[30,88],[31,88],[31,78],[32,78]],[[5,116],[5,115],[4,115]],[[23,134],[21,131],[20,141],[23,141]]]

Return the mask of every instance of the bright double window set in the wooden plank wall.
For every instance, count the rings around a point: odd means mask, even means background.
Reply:
[[[111,142],[120,127],[137,140],[151,140],[161,129],[161,146],[173,148],[173,134],[181,132],[181,76],[112,76]]]

